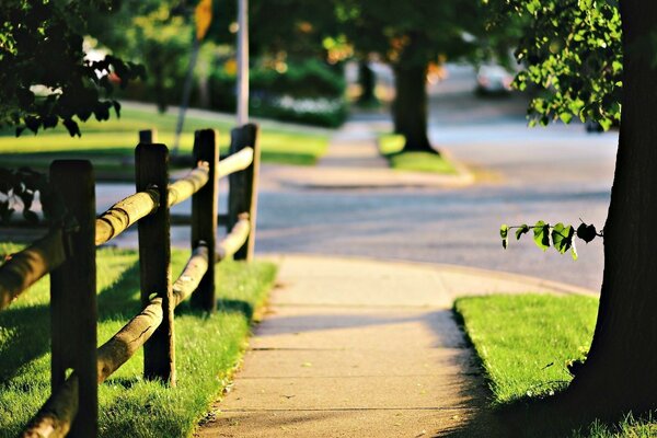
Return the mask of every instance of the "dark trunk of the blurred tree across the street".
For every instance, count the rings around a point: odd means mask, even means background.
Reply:
[[[427,64],[394,66],[396,96],[392,105],[394,131],[406,138],[403,152],[438,153],[427,137]]]

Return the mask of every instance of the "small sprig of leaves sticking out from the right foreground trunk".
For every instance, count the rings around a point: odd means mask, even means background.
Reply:
[[[530,231],[533,234],[533,241],[538,247],[546,251],[550,246],[554,247],[560,254],[565,254],[570,251],[573,260],[577,260],[577,247],[575,238],[589,243],[597,237],[602,237],[602,232],[598,232],[596,227],[581,222],[577,230],[572,224],[558,222],[554,226],[539,220],[533,226],[523,223],[521,226],[509,227],[506,223],[499,228],[499,237],[502,238],[502,246],[506,250],[509,244],[509,232],[516,230],[516,240]]]

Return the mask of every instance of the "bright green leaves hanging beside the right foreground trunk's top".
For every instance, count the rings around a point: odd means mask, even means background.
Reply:
[[[516,85],[534,85],[530,124],[573,117],[604,129],[620,120],[623,56],[614,0],[483,0],[496,11],[489,30],[522,23]]]

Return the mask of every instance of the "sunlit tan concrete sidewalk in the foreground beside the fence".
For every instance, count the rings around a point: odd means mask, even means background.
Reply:
[[[434,437],[466,424],[468,436],[487,436],[486,389],[452,318],[453,299],[586,292],[454,266],[276,262],[268,314],[200,437]]]

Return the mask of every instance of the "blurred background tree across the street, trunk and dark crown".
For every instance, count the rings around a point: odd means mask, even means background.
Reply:
[[[475,48],[465,33],[481,33],[477,2],[336,0],[341,31],[361,53],[392,66],[396,96],[392,118],[404,135],[404,151],[435,151],[427,136],[426,76],[439,56],[457,58]]]

